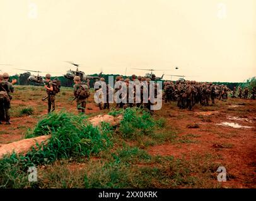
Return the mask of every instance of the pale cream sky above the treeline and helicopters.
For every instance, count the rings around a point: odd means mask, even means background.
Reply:
[[[0,63],[13,64],[2,71],[63,75],[64,61],[242,82],[256,75],[256,0],[0,0]]]

